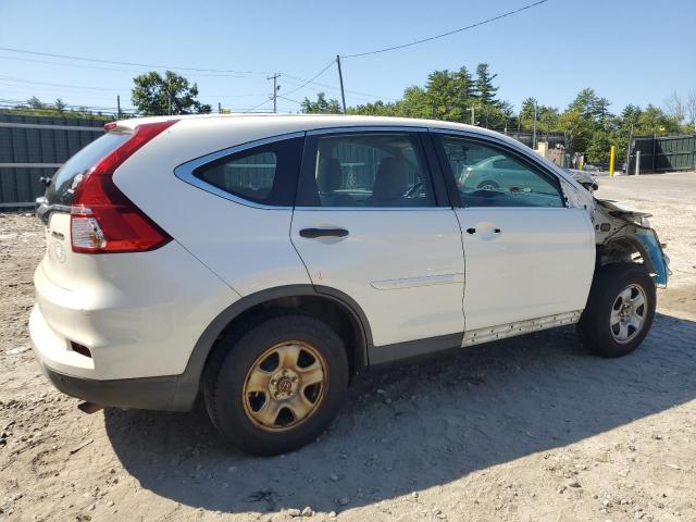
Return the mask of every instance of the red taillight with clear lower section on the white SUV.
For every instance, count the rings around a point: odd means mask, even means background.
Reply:
[[[76,184],[71,209],[74,252],[141,252],[172,238],[113,183],[113,173],[135,151],[177,120],[138,125],[130,138],[102,158]]]

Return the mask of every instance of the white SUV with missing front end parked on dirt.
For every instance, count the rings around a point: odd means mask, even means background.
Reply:
[[[359,116],[127,120],[55,173],[36,358],[92,405],[203,396],[254,453],[316,437],[368,368],[579,323],[634,350],[667,258],[646,214],[477,127]],[[457,183],[504,157],[514,179]]]

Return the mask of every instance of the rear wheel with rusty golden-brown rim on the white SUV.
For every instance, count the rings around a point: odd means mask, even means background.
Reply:
[[[324,322],[278,315],[220,343],[204,396],[226,440],[250,453],[277,455],[314,440],[333,420],[348,386],[348,360]]]

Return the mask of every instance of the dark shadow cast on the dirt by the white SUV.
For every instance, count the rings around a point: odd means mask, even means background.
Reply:
[[[587,355],[574,328],[462,350],[353,383],[331,430],[296,452],[224,447],[190,414],[108,409],[105,428],[140,485],[227,512],[344,510],[566,446],[696,398],[696,323],[658,314],[621,359]]]

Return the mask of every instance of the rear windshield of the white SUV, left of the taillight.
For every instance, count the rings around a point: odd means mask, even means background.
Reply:
[[[73,204],[73,194],[83,176],[99,160],[128,140],[129,134],[108,133],[94,140],[61,166],[46,189],[48,204]]]

